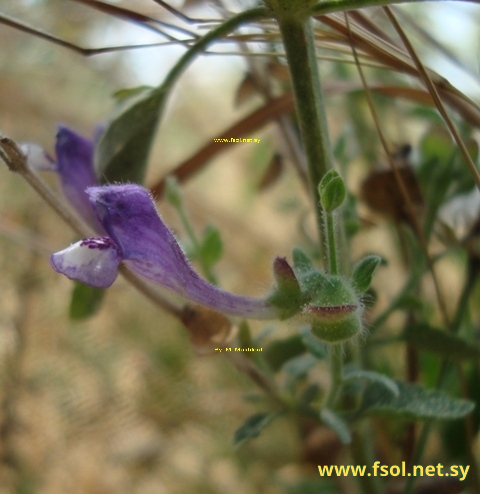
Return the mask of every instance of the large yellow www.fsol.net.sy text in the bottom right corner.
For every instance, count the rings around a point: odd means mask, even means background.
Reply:
[[[407,471],[404,461],[401,465],[382,465],[376,461],[370,470],[365,465],[318,465],[320,477],[457,477],[464,481],[467,477],[470,465],[451,465],[444,467],[441,463],[437,465],[413,465]]]

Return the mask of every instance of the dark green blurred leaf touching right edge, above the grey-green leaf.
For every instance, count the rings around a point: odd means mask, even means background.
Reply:
[[[458,360],[480,357],[480,346],[457,335],[447,333],[427,324],[408,326],[404,338],[412,345],[428,352],[438,353]]]

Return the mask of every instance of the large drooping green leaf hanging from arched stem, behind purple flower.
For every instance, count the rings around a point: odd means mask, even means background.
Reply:
[[[166,91],[145,86],[117,93],[117,104],[95,149],[101,181],[142,183]]]

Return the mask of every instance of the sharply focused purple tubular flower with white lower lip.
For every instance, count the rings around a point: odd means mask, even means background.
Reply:
[[[65,139],[71,138],[70,134],[65,135]],[[76,142],[88,158],[88,145]],[[79,152],[77,156],[80,155]],[[123,261],[135,273],[219,312],[255,319],[278,317],[278,310],[268,299],[234,295],[201,278],[143,187],[133,184],[89,187],[87,196],[108,236],[81,240],[53,254],[51,263],[56,271],[106,288],[114,282]]]

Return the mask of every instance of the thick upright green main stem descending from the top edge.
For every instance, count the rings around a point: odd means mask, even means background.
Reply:
[[[275,12],[275,14],[277,13]],[[311,20],[308,16],[286,15],[281,12],[281,9],[279,9],[278,14],[276,17],[292,78],[297,119],[307,156],[310,187],[315,202],[317,225],[321,239],[325,228],[324,218],[318,207],[320,197],[317,187],[323,175],[332,168],[333,156],[315,56]],[[321,240],[320,246],[323,246]]]

